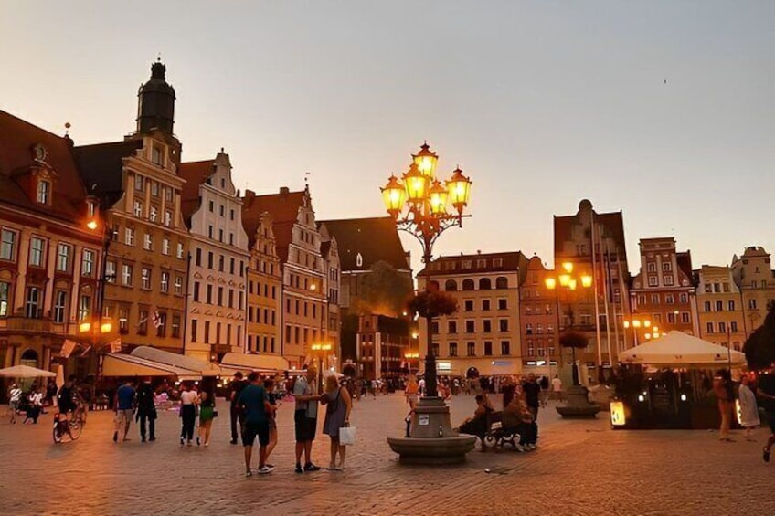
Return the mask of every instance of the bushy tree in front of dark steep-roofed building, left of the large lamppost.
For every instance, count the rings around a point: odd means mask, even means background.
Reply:
[[[359,315],[373,313],[398,317],[411,291],[411,278],[387,261],[380,260],[360,279],[353,310]]]

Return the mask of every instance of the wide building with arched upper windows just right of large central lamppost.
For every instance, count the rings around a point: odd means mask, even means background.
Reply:
[[[519,285],[527,272],[521,252],[440,257],[418,273],[458,300],[458,311],[434,319],[433,354],[439,374],[520,374]],[[420,320],[419,353],[427,353],[427,324]]]

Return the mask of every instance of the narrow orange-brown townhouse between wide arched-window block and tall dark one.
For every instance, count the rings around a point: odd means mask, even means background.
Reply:
[[[554,375],[562,363],[558,342],[557,289],[547,287],[555,278],[541,258],[527,262],[525,281],[519,287],[520,331],[523,370],[526,373]]]

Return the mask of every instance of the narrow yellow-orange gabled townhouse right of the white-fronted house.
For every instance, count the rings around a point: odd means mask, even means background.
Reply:
[[[249,234],[247,352],[270,355],[274,358],[266,367],[280,363],[283,367],[277,369],[286,369],[281,345],[282,269],[271,215],[260,213],[256,223],[256,230]]]

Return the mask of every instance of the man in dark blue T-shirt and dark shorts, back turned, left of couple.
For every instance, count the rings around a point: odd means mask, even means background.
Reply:
[[[269,418],[271,405],[266,390],[260,383],[260,376],[253,371],[248,375],[249,385],[243,388],[237,398],[237,406],[244,414],[242,446],[245,447],[245,476],[251,477],[250,461],[253,456],[253,442],[259,437],[259,475],[271,473],[273,468],[266,464],[269,444]]]

